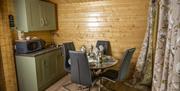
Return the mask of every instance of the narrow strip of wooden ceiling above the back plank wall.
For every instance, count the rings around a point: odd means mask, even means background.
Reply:
[[[105,1],[105,0],[58,0],[59,3],[83,3],[92,1]]]

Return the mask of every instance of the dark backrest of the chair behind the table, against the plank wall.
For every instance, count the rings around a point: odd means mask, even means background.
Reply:
[[[110,48],[110,42],[105,40],[98,40],[96,43],[96,47],[99,48],[99,46],[102,45],[104,47],[104,54],[105,55],[111,55],[111,48]]]

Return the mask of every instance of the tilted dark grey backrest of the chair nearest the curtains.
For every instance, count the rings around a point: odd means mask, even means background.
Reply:
[[[127,49],[123,55],[122,64],[120,65],[120,69],[118,72],[118,79],[117,80],[124,80],[128,73],[129,65],[134,54],[136,48]]]

